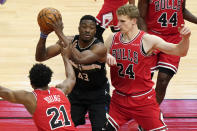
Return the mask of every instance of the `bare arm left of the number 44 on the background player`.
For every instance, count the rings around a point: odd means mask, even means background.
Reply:
[[[148,12],[149,0],[138,0],[138,9],[140,12],[140,18],[138,19],[138,27],[141,30],[147,31],[146,16]]]

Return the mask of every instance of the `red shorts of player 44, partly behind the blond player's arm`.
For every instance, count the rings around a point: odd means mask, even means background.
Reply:
[[[153,32],[148,32],[148,33],[157,35],[161,37],[162,39],[164,39],[165,41],[175,43],[175,44],[178,44],[182,40],[179,34],[159,35]],[[154,57],[157,57],[157,58],[155,58],[155,62],[151,68],[151,72],[157,70],[160,67],[172,70],[174,73],[177,72],[179,62],[180,62],[180,56],[168,55],[159,51],[157,52],[157,55]]]

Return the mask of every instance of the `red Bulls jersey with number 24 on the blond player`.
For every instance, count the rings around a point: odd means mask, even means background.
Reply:
[[[153,57],[146,56],[142,47],[143,31],[130,42],[122,41],[120,32],[114,35],[110,54],[117,61],[110,68],[111,82],[121,93],[132,95],[146,92],[154,85],[151,80],[150,67]]]

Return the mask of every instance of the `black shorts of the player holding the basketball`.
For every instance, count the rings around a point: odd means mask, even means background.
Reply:
[[[74,90],[68,98],[71,103],[71,117],[75,126],[85,124],[85,116],[88,113],[92,125],[92,131],[101,130],[106,122],[106,82],[97,90]]]

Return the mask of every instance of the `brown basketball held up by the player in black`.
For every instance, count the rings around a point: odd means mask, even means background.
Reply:
[[[50,7],[42,9],[37,17],[38,25],[40,26],[41,30],[46,33],[53,31],[53,28],[50,24],[56,22],[59,19],[62,19],[60,12],[57,9]]]

